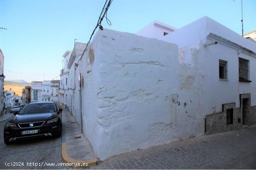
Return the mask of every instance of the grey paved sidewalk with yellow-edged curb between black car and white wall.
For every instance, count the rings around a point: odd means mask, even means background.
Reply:
[[[97,162],[93,149],[81,133],[81,127],[71,113],[62,111],[62,148],[61,156],[69,163],[88,163],[94,166]],[[86,167],[86,166],[83,166]]]

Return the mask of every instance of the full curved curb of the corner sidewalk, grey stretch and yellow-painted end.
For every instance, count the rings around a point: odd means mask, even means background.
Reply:
[[[66,143],[66,131],[65,131],[65,126],[63,125],[62,125],[62,136],[61,136],[61,157],[65,162],[67,162],[73,167],[89,167],[89,166],[97,165],[96,159],[80,160],[80,159],[73,159],[72,157],[68,156],[67,143]]]

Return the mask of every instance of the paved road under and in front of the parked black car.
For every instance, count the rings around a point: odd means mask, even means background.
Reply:
[[[0,122],[0,169],[70,169],[65,166],[33,166],[29,163],[64,163],[61,159],[61,138],[39,138],[5,145],[3,129],[7,121]],[[24,166],[6,166],[7,163]],[[28,163],[28,164],[27,164]],[[21,164],[20,164],[21,165]],[[28,165],[28,166],[27,166]]]

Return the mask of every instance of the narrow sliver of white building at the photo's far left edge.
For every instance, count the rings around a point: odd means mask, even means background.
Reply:
[[[5,108],[5,98],[4,98],[4,55],[0,49],[0,116],[3,114],[3,109]]]

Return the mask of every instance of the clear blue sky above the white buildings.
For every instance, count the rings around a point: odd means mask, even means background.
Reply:
[[[105,0],[0,0],[6,80],[58,79],[74,38],[86,43]],[[153,20],[180,28],[208,16],[241,34],[241,0],[113,0],[102,26],[135,33]],[[256,0],[243,0],[244,33],[256,30]],[[16,73],[15,73],[16,72]],[[20,72],[20,73],[17,73]],[[22,74],[21,74],[22,73]],[[24,73],[24,74],[23,74]]]

